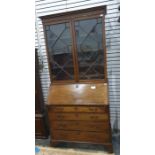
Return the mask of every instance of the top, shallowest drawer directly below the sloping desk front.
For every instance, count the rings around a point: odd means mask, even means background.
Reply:
[[[108,112],[108,106],[50,106],[48,109],[49,112]]]

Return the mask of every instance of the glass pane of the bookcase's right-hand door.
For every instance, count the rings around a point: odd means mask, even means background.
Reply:
[[[103,79],[104,55],[101,18],[76,21],[75,30],[79,78]]]

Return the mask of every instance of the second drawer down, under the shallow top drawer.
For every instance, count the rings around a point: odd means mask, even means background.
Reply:
[[[81,120],[81,121],[107,121],[108,114],[93,114],[93,113],[50,113],[49,118],[52,121],[58,120]]]

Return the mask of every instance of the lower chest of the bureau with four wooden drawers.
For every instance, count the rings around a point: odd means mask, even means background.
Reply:
[[[48,106],[51,142],[104,144],[112,152],[108,105]]]

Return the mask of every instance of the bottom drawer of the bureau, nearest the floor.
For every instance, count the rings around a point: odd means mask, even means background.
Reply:
[[[76,142],[110,142],[110,134],[104,132],[81,132],[81,131],[62,131],[54,130],[52,132],[54,140],[76,141]]]

